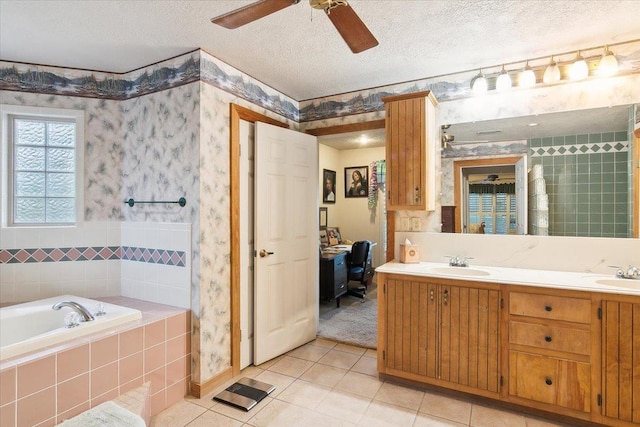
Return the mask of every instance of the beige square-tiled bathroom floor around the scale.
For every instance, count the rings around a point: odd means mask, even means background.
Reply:
[[[249,412],[212,397],[242,377],[276,390]],[[260,366],[250,366],[200,399],[186,397],[151,419],[152,427],[204,426],[558,427],[515,412],[457,400],[378,378],[376,353],[317,339]]]

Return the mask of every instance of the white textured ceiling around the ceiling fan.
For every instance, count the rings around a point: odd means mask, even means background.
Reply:
[[[351,0],[354,55],[306,0],[236,30],[253,0],[0,0],[0,59],[126,72],[202,48],[301,101],[640,38],[640,1]]]

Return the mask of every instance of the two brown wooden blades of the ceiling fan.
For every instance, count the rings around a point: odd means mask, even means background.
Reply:
[[[211,22],[234,29],[298,3],[300,0],[260,0],[216,16]],[[378,40],[346,0],[309,0],[309,4],[314,9],[324,10],[353,53],[378,45]]]

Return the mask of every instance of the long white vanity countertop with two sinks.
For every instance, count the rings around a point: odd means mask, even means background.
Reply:
[[[617,279],[614,269],[610,275],[604,275],[475,265],[449,267],[447,263],[436,262],[388,262],[376,268],[376,272],[640,296],[640,279]]]

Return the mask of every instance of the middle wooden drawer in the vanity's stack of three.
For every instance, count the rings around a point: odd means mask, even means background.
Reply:
[[[509,322],[509,343],[568,353],[591,354],[591,333],[566,326]]]

